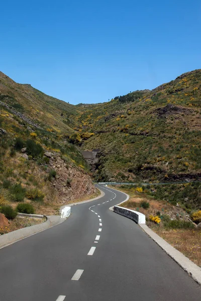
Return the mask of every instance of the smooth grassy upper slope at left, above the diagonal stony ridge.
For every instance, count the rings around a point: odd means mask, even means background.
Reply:
[[[28,84],[18,84],[0,72],[0,101],[29,117],[43,129],[73,132],[78,113],[75,106],[48,96]]]

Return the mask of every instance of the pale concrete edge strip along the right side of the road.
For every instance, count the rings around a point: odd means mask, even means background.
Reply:
[[[109,187],[110,189],[114,189]],[[114,189],[117,190],[117,189]],[[120,191],[120,190],[117,190]],[[120,191],[122,192],[122,191]],[[115,206],[119,206],[120,204],[128,201],[130,196],[125,192],[123,194],[127,195],[127,199]],[[114,206],[109,209],[113,210]],[[165,241],[162,237],[156,234],[153,230],[151,230],[146,224],[138,224],[138,226],[153,240],[157,243],[157,245],[167,254],[169,255],[191,278],[201,286],[201,268],[188,259],[185,255],[171,246],[167,241]]]

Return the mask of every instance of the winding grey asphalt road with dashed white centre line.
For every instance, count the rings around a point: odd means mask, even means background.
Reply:
[[[0,250],[1,301],[201,299],[137,224],[109,210],[126,196],[102,187],[104,197],[72,206],[62,224]]]

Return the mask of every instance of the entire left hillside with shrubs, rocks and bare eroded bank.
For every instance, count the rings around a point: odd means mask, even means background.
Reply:
[[[78,147],[66,141],[78,113],[0,73],[0,212],[24,202],[52,214],[96,193]]]

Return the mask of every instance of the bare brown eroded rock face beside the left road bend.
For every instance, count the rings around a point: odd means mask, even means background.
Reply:
[[[81,168],[66,167],[60,157],[50,158],[49,166],[57,173],[56,178],[52,179],[52,185],[63,204],[95,192],[90,176]]]

